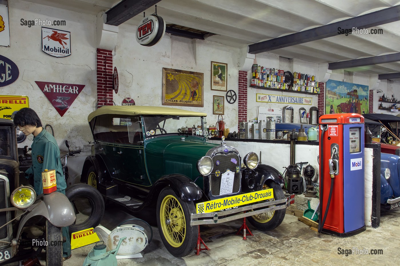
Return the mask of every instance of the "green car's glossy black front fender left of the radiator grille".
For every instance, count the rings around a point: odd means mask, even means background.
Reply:
[[[158,179],[156,183],[154,183],[149,193],[149,202],[154,202],[154,197],[157,198],[161,190],[167,186],[172,188],[176,195],[185,201],[199,200],[203,196],[200,187],[196,185],[190,178],[184,175],[170,174],[164,175]]]

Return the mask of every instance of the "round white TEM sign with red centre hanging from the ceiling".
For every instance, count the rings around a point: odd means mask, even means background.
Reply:
[[[136,41],[143,46],[153,46],[165,33],[165,21],[157,15],[143,18],[136,30]]]

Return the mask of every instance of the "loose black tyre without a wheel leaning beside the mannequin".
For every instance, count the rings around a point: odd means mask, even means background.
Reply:
[[[87,228],[96,227],[100,224],[104,215],[104,200],[100,192],[87,184],[76,184],[67,187],[65,195],[68,197],[72,206],[74,206],[75,213],[79,204],[75,204],[74,200],[78,198],[85,198],[91,206],[91,213],[84,222],[76,224],[76,221],[69,226],[70,234]]]

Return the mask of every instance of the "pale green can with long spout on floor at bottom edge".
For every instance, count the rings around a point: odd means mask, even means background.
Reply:
[[[97,242],[92,250],[90,250],[88,256],[83,262],[83,266],[117,266],[116,255],[125,238],[126,237],[121,238],[120,242],[118,242],[118,246],[108,252],[106,252],[107,246],[104,244],[104,241],[102,241],[103,244],[100,245],[100,242]]]

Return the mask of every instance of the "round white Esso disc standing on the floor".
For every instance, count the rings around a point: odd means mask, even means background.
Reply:
[[[126,238],[122,241],[117,253],[118,255],[137,254],[144,250],[148,244],[147,235],[142,230],[132,226],[132,224],[124,224],[112,230],[108,237],[108,248],[111,250],[116,248],[120,238],[124,236],[126,236]]]

